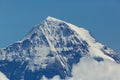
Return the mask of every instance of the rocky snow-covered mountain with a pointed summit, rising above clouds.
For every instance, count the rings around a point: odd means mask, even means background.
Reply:
[[[120,63],[120,55],[96,42],[90,33],[65,21],[47,17],[21,41],[0,49],[0,71],[10,80],[71,77],[73,64],[88,56]]]

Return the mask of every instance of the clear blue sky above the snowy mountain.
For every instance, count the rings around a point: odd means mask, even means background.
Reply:
[[[47,16],[82,26],[120,51],[120,0],[0,0],[0,48],[21,40]]]

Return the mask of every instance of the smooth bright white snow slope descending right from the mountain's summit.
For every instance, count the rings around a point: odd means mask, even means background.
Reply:
[[[65,22],[65,21],[62,21],[62,20],[59,20],[59,19],[56,19],[56,18],[53,18],[53,17],[47,17],[46,20],[48,20],[48,21],[50,21],[54,24],[57,24],[57,25],[62,23],[64,25],[66,25],[66,26],[63,26],[63,27],[67,27],[70,30],[74,31],[75,35],[78,36],[79,39],[84,40],[89,44],[88,49],[89,49],[89,52],[90,52],[91,56],[93,56],[93,57],[104,57],[105,59],[110,59],[110,60],[114,61],[111,57],[109,57],[107,55],[104,55],[104,52],[101,50],[104,45],[96,42],[95,39],[90,35],[89,31],[87,31],[86,29],[77,27],[73,24],[70,24],[68,22]],[[60,26],[56,26],[56,28],[58,28],[58,27],[60,27]]]

